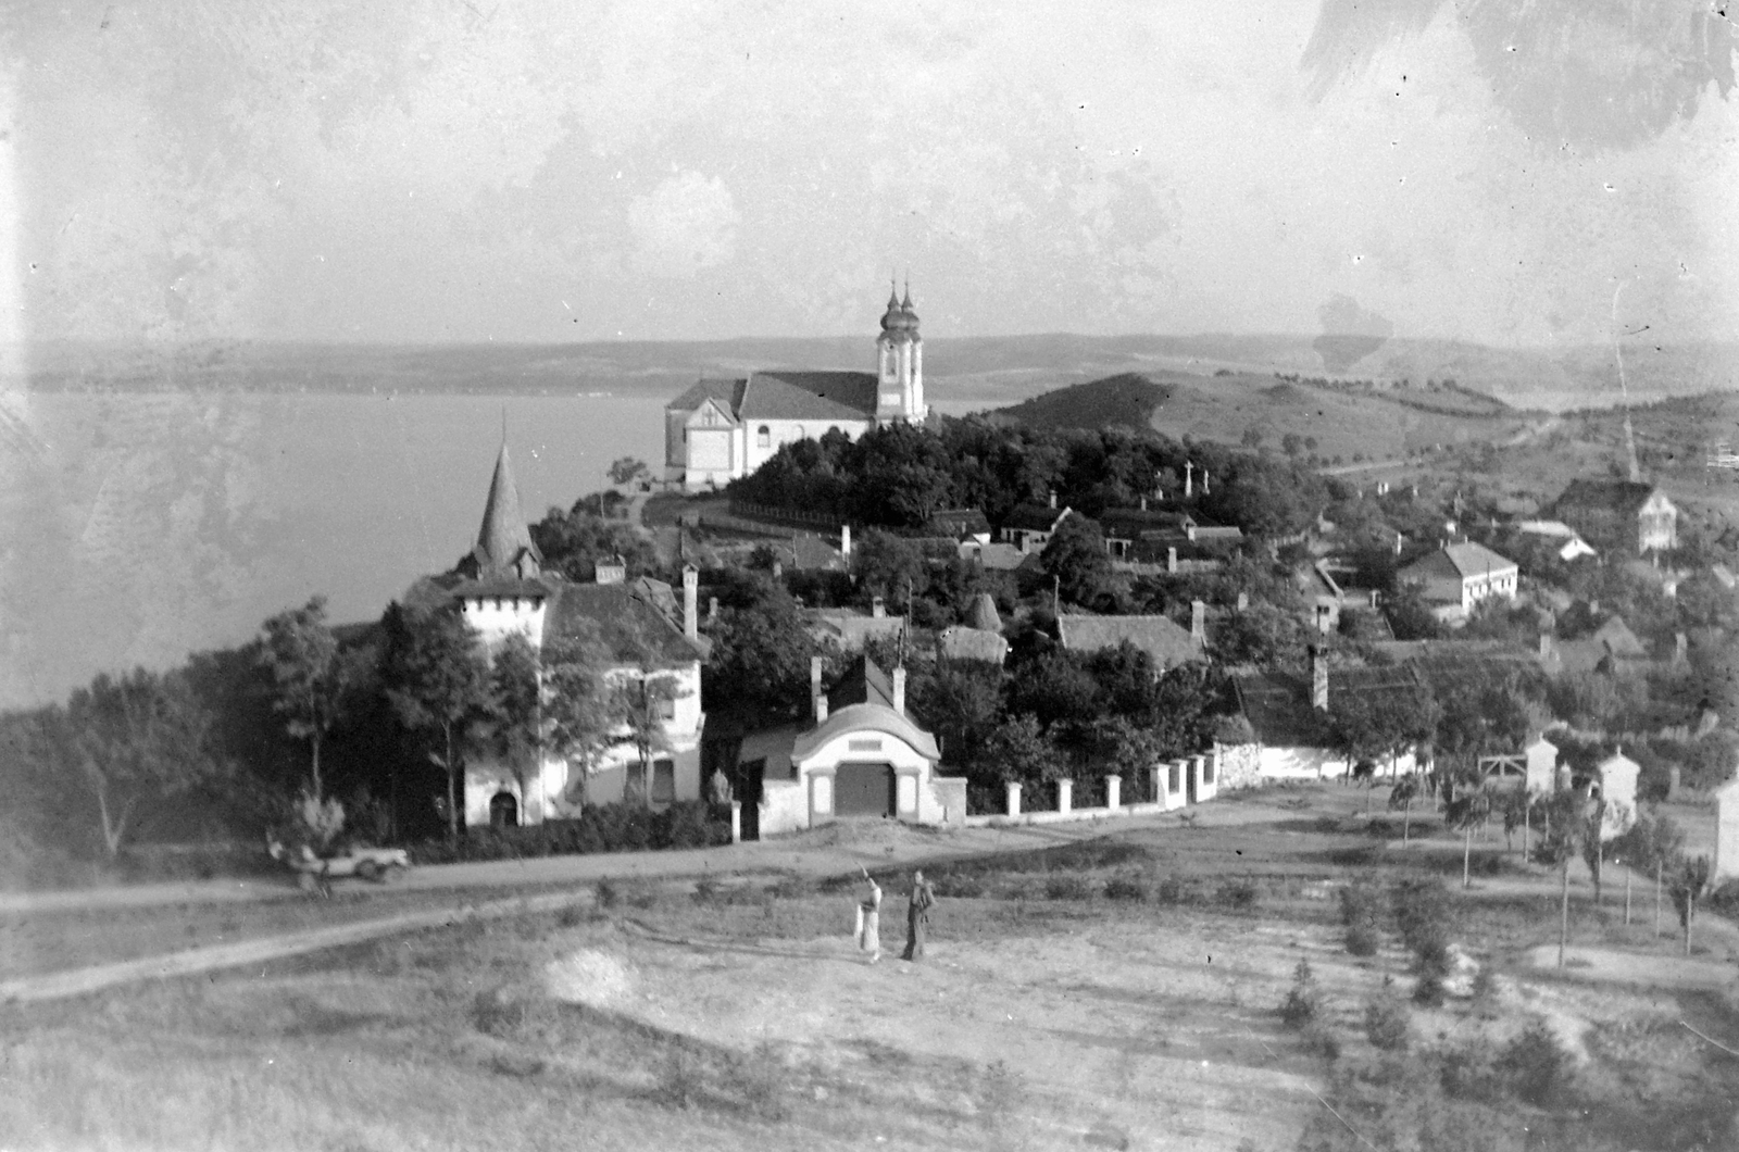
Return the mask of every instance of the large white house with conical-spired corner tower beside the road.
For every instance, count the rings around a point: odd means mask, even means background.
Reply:
[[[556,637],[596,632],[610,653],[605,672],[614,687],[657,680],[664,745],[650,764],[628,740],[600,750],[590,766],[543,755],[515,773],[487,753],[466,759],[464,823],[518,825],[572,816],[586,804],[638,797],[652,807],[699,799],[701,663],[710,642],[699,633],[697,574],[683,571],[682,600],[657,579],[626,579],[616,560],[596,566],[596,583],[577,585],[543,571],[543,555],[520,513],[518,487],[501,445],[489,486],[476,546],[426,593],[457,600],[464,621],[485,649],[511,633],[539,653]],[[590,771],[588,771],[590,769]]]

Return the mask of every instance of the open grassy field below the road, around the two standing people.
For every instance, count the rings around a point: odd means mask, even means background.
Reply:
[[[1642,893],[1626,926],[1612,875],[1595,908],[1577,870],[1572,968],[1541,969],[1553,875],[1494,834],[1462,893],[1457,837],[1426,818],[1403,849],[1363,804],[1269,790],[937,863],[922,964],[863,961],[849,877],[607,882],[586,908],[3,1009],[0,1147],[1734,1147],[1739,1058],[1715,1044],[1739,1048],[1739,1011],[1709,976],[1732,926],[1702,917],[1680,961]],[[1407,1002],[1388,919],[1349,954],[1341,889],[1403,879],[1447,881],[1476,995]],[[1304,1030],[1278,1011],[1299,961]],[[1376,1001],[1403,1051],[1372,1044]],[[1536,1021],[1562,1068],[1529,1098],[1504,1060]]]

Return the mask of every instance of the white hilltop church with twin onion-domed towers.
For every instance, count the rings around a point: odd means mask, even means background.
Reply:
[[[664,479],[689,491],[718,487],[767,463],[781,444],[929,416],[923,341],[911,287],[889,292],[875,372],[772,371],[706,379],[664,405]]]

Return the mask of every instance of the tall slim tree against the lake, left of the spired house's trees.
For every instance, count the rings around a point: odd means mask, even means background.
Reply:
[[[261,630],[259,663],[271,673],[273,710],[285,731],[308,741],[310,790],[322,797],[320,743],[339,722],[362,679],[362,656],[339,649],[325,623],[325,597],[278,613]]]

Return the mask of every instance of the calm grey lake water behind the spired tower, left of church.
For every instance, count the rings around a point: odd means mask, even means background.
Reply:
[[[0,412],[0,707],[243,642],[315,593],[374,620],[476,538],[506,414],[527,519],[654,470],[670,393],[28,393]],[[943,402],[949,414],[983,400]]]

